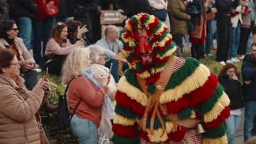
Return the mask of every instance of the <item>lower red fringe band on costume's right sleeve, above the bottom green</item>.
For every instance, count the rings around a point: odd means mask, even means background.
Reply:
[[[225,122],[225,119],[230,116],[230,109],[229,106],[226,106],[225,109],[220,112],[219,116],[214,119],[210,123],[203,123],[203,127],[206,129],[211,129],[214,127],[218,127],[222,122]]]

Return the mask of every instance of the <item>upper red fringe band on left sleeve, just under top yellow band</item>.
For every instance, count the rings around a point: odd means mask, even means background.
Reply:
[[[125,93],[117,91],[117,94],[115,94],[115,100],[118,105],[130,108],[141,116],[144,115],[145,107],[139,104],[136,100],[132,100]]]

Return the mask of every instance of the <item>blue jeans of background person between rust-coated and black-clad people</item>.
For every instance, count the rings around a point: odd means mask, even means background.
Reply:
[[[212,45],[212,20],[207,21],[205,45],[203,45],[206,55],[211,53]]]

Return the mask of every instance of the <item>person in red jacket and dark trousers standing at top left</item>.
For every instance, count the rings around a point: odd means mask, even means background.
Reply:
[[[53,28],[54,17],[46,17],[44,4],[58,5],[60,0],[34,0],[38,8],[38,14],[34,18],[33,26],[33,56],[37,64],[40,64],[42,59],[41,51],[43,48],[43,56],[45,52],[45,46],[49,39],[51,29]],[[43,47],[42,47],[43,41]]]

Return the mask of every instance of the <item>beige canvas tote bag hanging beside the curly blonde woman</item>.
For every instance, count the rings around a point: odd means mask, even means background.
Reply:
[[[101,121],[100,125],[98,125],[97,132],[97,143],[98,144],[109,144],[111,143],[111,138],[114,133],[112,131],[112,123],[110,121],[110,117],[108,115],[108,110],[105,109],[105,106],[101,105]]]

